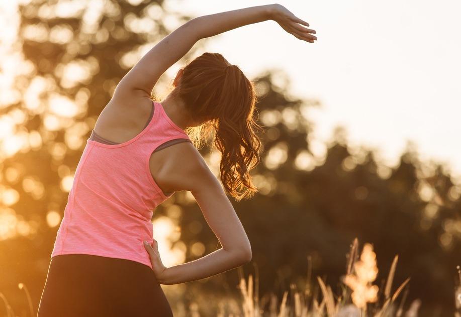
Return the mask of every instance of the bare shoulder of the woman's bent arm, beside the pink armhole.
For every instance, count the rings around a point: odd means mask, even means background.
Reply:
[[[163,152],[163,153],[162,153]],[[211,188],[221,189],[216,176],[191,142],[181,142],[162,149],[161,168],[156,179],[164,188],[199,193]]]

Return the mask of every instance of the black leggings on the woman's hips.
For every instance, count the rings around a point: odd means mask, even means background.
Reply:
[[[173,315],[150,267],[87,254],[51,259],[38,317]]]

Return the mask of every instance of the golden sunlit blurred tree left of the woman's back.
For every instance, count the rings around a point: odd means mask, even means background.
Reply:
[[[75,168],[116,84],[191,19],[166,13],[162,0],[33,0],[18,10],[10,54],[21,58],[2,72],[21,70],[11,90],[19,97],[1,105],[4,122],[15,125],[0,140],[0,289],[13,307],[24,303],[18,281],[35,303],[40,298]],[[162,76],[159,86],[165,84]]]

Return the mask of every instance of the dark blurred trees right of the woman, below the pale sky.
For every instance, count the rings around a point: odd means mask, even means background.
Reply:
[[[262,162],[253,172],[259,193],[233,201],[252,244],[252,263],[245,270],[257,266],[260,292],[274,291],[281,298],[290,282],[302,287],[307,255],[316,274],[338,283],[345,274],[344,255],[358,237],[375,245],[378,280],[387,278],[399,254],[393,289],[411,277],[408,300],[423,300],[422,316],[433,315],[429,307],[452,314],[455,267],[461,260],[456,251],[461,241],[459,187],[442,166],[420,162],[411,143],[394,169],[378,163],[373,151],[351,151],[342,128],[322,148],[311,137],[313,124],[306,115],[318,102],[288,99],[284,91],[289,86],[274,85],[280,80],[273,77],[281,75],[271,71],[258,78],[265,91],[258,105],[259,124],[265,126]],[[201,241],[205,253],[214,251],[218,241],[200,209],[187,209],[193,210],[182,215],[182,240]],[[198,256],[190,248],[187,260]],[[235,271],[225,275],[209,279],[201,289],[237,284]]]

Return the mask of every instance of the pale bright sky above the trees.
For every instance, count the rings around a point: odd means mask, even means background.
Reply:
[[[165,6],[196,17],[271,3],[166,0]],[[412,141],[421,159],[461,175],[461,2],[278,3],[316,30],[314,44],[265,21],[208,39],[206,51],[223,54],[248,77],[267,68],[286,72],[290,93],[320,101],[310,116],[323,142],[342,126],[352,147],[375,149],[395,166]]]

